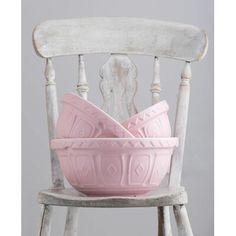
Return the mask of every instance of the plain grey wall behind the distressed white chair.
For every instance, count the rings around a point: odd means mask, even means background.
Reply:
[[[22,0],[22,209],[24,236],[36,235],[40,207],[37,192],[50,186],[44,61],[32,48],[33,27],[41,21],[87,16],[134,16],[194,24],[209,36],[205,59],[193,65],[193,80],[182,183],[189,193],[188,211],[195,235],[213,235],[213,0]],[[90,100],[101,104],[98,70],[107,55],[86,56]],[[132,56],[139,75],[139,110],[150,104],[153,58]],[[58,96],[73,91],[77,58],[55,60]],[[161,60],[162,97],[173,121],[183,63]],[[55,208],[53,235],[62,235],[65,209]],[[156,235],[156,209],[81,209],[80,235]],[[175,230],[175,228],[174,228]]]

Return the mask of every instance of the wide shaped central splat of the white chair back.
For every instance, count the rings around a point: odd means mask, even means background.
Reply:
[[[127,55],[113,54],[100,70],[102,109],[118,121],[137,113],[134,96],[137,91],[137,69]]]

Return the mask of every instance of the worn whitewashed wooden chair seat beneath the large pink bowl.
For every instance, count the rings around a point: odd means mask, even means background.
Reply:
[[[91,197],[72,188],[48,189],[39,192],[39,203],[73,207],[157,207],[187,203],[184,187],[159,188],[139,196]]]

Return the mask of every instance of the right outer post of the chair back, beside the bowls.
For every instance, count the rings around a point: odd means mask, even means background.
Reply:
[[[179,86],[179,96],[174,127],[174,136],[179,138],[179,146],[174,150],[172,156],[169,178],[170,186],[179,186],[181,182],[191,78],[192,73],[190,63],[186,62],[183,72],[181,74],[181,82]]]

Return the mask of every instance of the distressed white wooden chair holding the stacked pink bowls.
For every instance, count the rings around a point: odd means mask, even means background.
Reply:
[[[168,186],[159,188],[152,194],[137,197],[86,197],[73,189],[64,187],[57,156],[53,150],[50,150],[52,187],[39,193],[38,199],[42,205],[39,235],[50,235],[53,206],[68,207],[64,232],[66,236],[78,233],[79,207],[157,207],[158,235],[162,236],[172,235],[169,216],[169,207],[171,207],[174,210],[178,235],[193,235],[185,208],[187,194],[184,187],[180,186],[180,181],[190,94],[190,63],[201,60],[207,51],[205,32],[191,25],[137,18],[50,20],[35,28],[33,44],[37,54],[46,59],[49,140],[54,138],[58,117],[53,57],[79,56],[77,91],[80,96],[87,99],[88,83],[83,54],[111,53],[109,60],[101,68],[100,88],[105,111],[118,120],[122,119],[124,112],[128,112],[129,115],[136,112],[133,102],[136,92],[136,67],[127,54],[150,55],[154,58],[154,78],[151,85],[153,104],[159,101],[161,91],[159,57],[185,62],[181,74],[173,132],[173,136],[179,138],[180,145],[172,156]],[[123,92],[125,96],[120,95]],[[111,97],[115,99],[110,99]]]

